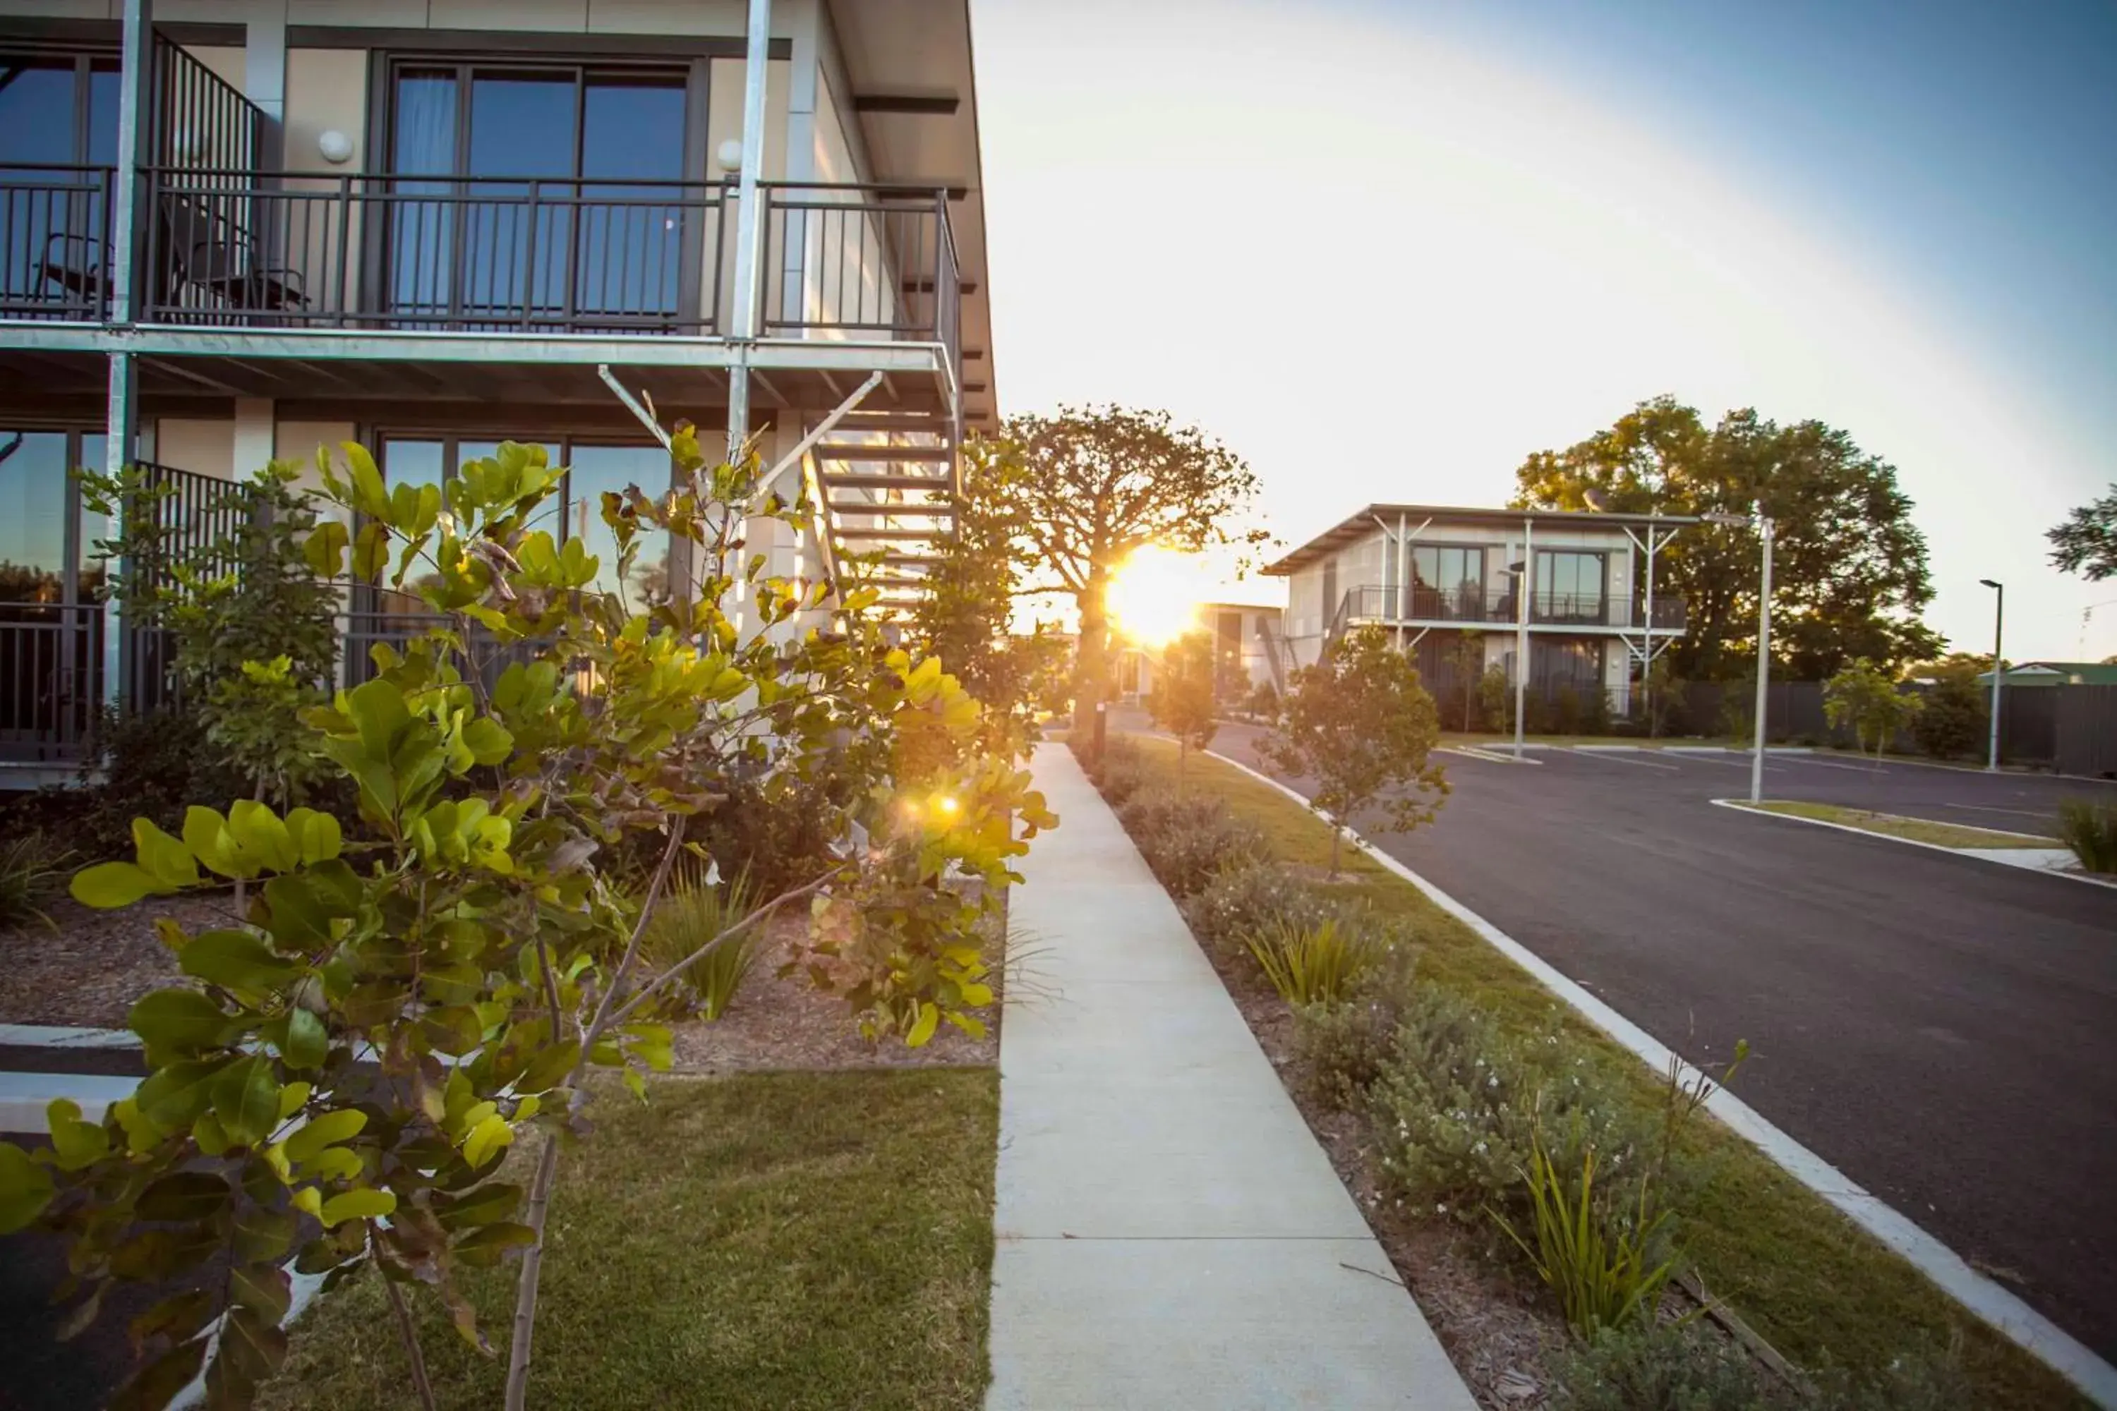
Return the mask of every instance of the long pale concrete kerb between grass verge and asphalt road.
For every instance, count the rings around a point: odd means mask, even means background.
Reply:
[[[1289,800],[1308,808],[1308,800],[1289,789],[1287,785],[1260,774],[1241,759],[1230,759],[1228,755],[1205,751],[1230,764],[1243,774],[1279,789]],[[1719,800],[1715,800],[1719,802]],[[1332,821],[1323,814],[1325,821]],[[1783,814],[1780,814],[1783,817]],[[1804,819],[1812,823],[1812,819]],[[1842,827],[1842,825],[1831,825]],[[1850,829],[1861,831],[1861,829]],[[1622,1013],[1605,1005],[1600,998],[1567,979],[1558,969],[1554,969],[1543,956],[1528,950],[1512,935],[1488,922],[1486,918],[1471,912],[1467,905],[1444,893],[1442,888],[1427,882],[1423,876],[1399,863],[1395,857],[1382,853],[1378,846],[1361,838],[1357,831],[1346,829],[1346,838],[1353,840],[1361,853],[1374,859],[1378,865],[1397,874],[1421,893],[1427,895],[1433,905],[1442,908],[1465,927],[1476,931],[1486,943],[1499,950],[1503,956],[1528,971],[1545,990],[1571,1005],[1584,1020],[1600,1028],[1615,1043],[1634,1053],[1655,1073],[1668,1073],[1670,1064],[1677,1064],[1677,1073],[1683,1081],[1696,1083],[1702,1075],[1698,1068],[1687,1064],[1675,1049],[1658,1041],[1647,1030],[1639,1028]],[[1897,840],[1903,842],[1903,840]],[[1920,844],[1933,846],[1933,844]],[[1941,848],[1943,853],[1948,848]],[[2032,1309],[2028,1303],[2015,1295],[2001,1288],[1996,1282],[1977,1273],[1960,1254],[1935,1240],[1931,1233],[1912,1223],[1903,1212],[1888,1206],[1888,1202],[1861,1189],[1850,1176],[1840,1172],[1835,1166],[1819,1157],[1814,1151],[1793,1140],[1770,1121],[1766,1121],[1755,1108],[1730,1094],[1725,1087],[1715,1087],[1713,1096],[1706,1100],[1706,1108],[1742,1140],[1753,1144],[1766,1157],[1772,1159],[1783,1172],[1806,1185],[1810,1191],[1827,1199],[1831,1206],[1842,1210],[1854,1225],[1865,1229],[1869,1235],[1880,1240],[1884,1246],[1901,1254],[1920,1273],[1933,1280],[1941,1290],[1956,1299],[1977,1318],[1998,1328],[2018,1348],[2030,1356],[2045,1362],[2051,1371],[2062,1375],[2066,1381],[2077,1386],[2104,1411],[2117,1411],[2117,1367],[2111,1367],[2100,1356],[2096,1356],[2085,1343],[2075,1339],[2070,1333],[2053,1324],[2049,1318]]]

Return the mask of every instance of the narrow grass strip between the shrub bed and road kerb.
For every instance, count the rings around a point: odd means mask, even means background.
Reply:
[[[1135,738],[1154,783],[1173,783],[1175,745]],[[1283,861],[1329,861],[1325,823],[1226,762],[1194,755],[1186,789],[1224,798],[1264,831]],[[1620,1092],[1643,1104],[1655,1102],[1655,1075],[1639,1058],[1416,886],[1351,848],[1344,872],[1351,888],[1378,910],[1414,922],[1423,982],[1467,994],[1531,1034],[1554,1028],[1571,1034],[1600,1060]],[[1704,1204],[1681,1212],[1691,1263],[1715,1297],[1795,1362],[1876,1371],[1907,1350],[1946,1350],[1960,1331],[1962,1364],[1977,1386],[1975,1405],[1982,1411],[2089,1405],[2064,1377],[1971,1316],[1742,1138],[1708,1121],[1696,1123],[1689,1140],[1717,1170]]]

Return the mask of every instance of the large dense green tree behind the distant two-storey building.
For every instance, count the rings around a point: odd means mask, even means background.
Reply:
[[[1943,647],[1918,620],[1933,582],[1897,470],[1821,421],[1778,425],[1744,408],[1706,427],[1664,396],[1564,451],[1537,451],[1516,482],[1516,503],[1539,510],[1586,510],[1590,493],[1628,514],[1761,506],[1776,537],[1772,660],[1804,681],[1859,658],[1903,664]],[[1677,675],[1725,681],[1753,668],[1757,556],[1749,525],[1700,525],[1662,550],[1658,590],[1689,603]]]

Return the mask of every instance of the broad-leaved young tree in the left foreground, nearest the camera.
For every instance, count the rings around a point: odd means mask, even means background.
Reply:
[[[618,582],[663,533],[728,565],[752,518],[804,518],[764,493],[756,457],[713,463],[688,427],[671,455],[663,497],[601,497]],[[544,1221],[561,1151],[591,1136],[591,1073],[644,1098],[671,1062],[673,982],[794,901],[815,927],[800,971],[864,1032],[982,1032],[987,922],[1052,819],[1025,770],[980,749],[978,704],[940,660],[889,647],[862,611],[872,590],[847,594],[836,630],[781,641],[828,584],[754,556],[635,611],[593,586],[582,539],[529,529],[565,482],[538,446],[506,442],[445,487],[385,487],[354,444],[345,474],[322,472],[360,520],[311,531],[322,575],[417,594],[440,620],[307,715],[358,789],[360,836],[309,808],[193,806],[180,836],[135,821],[133,861],[74,878],[93,908],[256,886],[214,929],[157,922],[188,982],[129,1013],[146,1079],[102,1121],[53,1102],[49,1149],[0,1144],[0,1233],[72,1235],[76,1326],[112,1282],[176,1290],[131,1322],[146,1362],[116,1400],[142,1407],[201,1371],[212,1405],[248,1405],[286,1354],[290,1261],[326,1293],[383,1280],[432,1407],[406,1299],[440,1299],[491,1354],[455,1273],[514,1261],[502,1403],[521,1411]],[[489,673],[478,641],[517,660]],[[843,861],[646,967],[686,825],[743,781],[826,770],[857,785]],[[639,882],[625,859],[646,848]],[[523,1185],[502,1178],[517,1138],[536,1142]]]

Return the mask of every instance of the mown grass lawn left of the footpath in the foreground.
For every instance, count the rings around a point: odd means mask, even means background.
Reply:
[[[995,1070],[663,1079],[650,1098],[599,1098],[561,1159],[531,1407],[980,1405]],[[419,1301],[442,1407],[500,1405],[512,1273],[466,1278],[497,1360]],[[417,1407],[373,1271],[309,1309],[260,1405]]]

